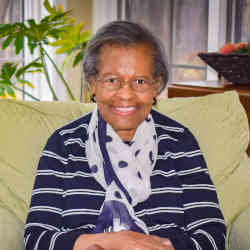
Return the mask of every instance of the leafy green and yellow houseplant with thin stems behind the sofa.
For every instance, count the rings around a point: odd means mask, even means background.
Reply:
[[[38,50],[39,56],[27,65],[18,65],[13,62],[6,62],[0,70],[0,96],[8,94],[11,97],[16,96],[16,91],[38,100],[22,88],[23,85],[34,87],[34,85],[25,80],[27,73],[43,73],[46,82],[51,91],[53,100],[58,97],[51,83],[51,77],[48,71],[48,61],[54,67],[59,75],[62,84],[65,86],[68,96],[75,101],[70,85],[63,76],[62,70],[56,65],[52,56],[48,53],[48,46],[59,46],[57,53],[65,53],[65,63],[73,58],[73,67],[76,66],[83,57],[84,48],[90,39],[90,33],[84,30],[82,23],[75,24],[71,17],[71,11],[63,11],[62,7],[51,6],[48,0],[44,1],[44,7],[48,15],[36,22],[29,19],[24,22],[14,24],[0,24],[0,39],[4,39],[2,49],[6,49],[11,44],[14,45],[15,53],[18,55],[24,50],[24,43],[27,41],[29,53],[34,54]]]

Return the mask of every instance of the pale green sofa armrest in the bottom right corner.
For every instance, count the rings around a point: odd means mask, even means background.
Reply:
[[[250,206],[234,219],[228,230],[228,250],[250,249]]]

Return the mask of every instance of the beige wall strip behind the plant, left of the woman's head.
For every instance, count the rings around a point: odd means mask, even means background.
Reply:
[[[67,9],[72,10],[72,16],[76,18],[77,23],[83,22],[85,28],[91,31],[92,0],[68,0]],[[67,69],[66,73],[66,78],[77,100],[80,100],[81,70],[82,65],[80,64],[75,68]]]

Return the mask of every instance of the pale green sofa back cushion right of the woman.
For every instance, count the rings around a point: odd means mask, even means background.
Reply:
[[[158,110],[187,126],[196,136],[216,185],[227,224],[250,204],[249,128],[238,94],[160,101]]]

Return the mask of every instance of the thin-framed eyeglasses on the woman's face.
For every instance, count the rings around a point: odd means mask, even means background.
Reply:
[[[146,92],[152,89],[155,84],[155,80],[149,80],[144,77],[135,77],[129,81],[125,81],[122,78],[117,76],[107,76],[107,77],[99,77],[97,81],[100,82],[102,88],[105,88],[110,91],[117,91],[124,87],[126,84],[129,84],[130,87],[135,92]]]

